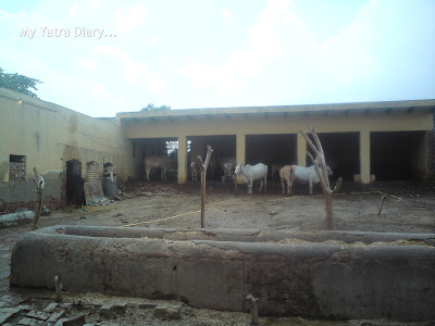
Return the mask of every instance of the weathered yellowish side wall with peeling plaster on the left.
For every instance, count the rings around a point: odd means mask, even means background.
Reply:
[[[21,101],[21,102],[20,102]],[[61,105],[48,103],[0,88],[0,209],[14,205],[32,208],[36,197],[33,168],[45,180],[44,203],[62,205],[65,164],[75,159],[82,163],[111,162],[121,174],[128,161],[123,159],[127,141],[116,118],[92,118]],[[10,155],[24,155],[24,181],[9,178]],[[120,179],[119,178],[119,179]]]

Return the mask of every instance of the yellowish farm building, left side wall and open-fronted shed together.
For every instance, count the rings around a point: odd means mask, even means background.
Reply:
[[[434,175],[435,100],[222,108],[119,113],[94,118],[0,88],[0,213],[36,197],[34,167],[46,179],[44,202],[63,208],[71,175],[119,184],[144,178],[144,159],[174,155],[174,179],[213,148],[213,164],[310,165],[299,130],[315,128],[334,176],[368,184]],[[217,164],[216,164],[217,165]],[[213,165],[211,166],[213,167]],[[213,175],[212,175],[213,178]],[[212,179],[211,178],[211,179]],[[214,176],[220,179],[219,167]]]

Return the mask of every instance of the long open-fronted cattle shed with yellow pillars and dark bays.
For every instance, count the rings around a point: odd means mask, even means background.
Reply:
[[[246,106],[119,113],[134,156],[164,154],[178,142],[178,183],[211,145],[214,158],[237,163],[310,165],[299,130],[315,128],[336,176],[426,179],[433,174],[435,100]]]

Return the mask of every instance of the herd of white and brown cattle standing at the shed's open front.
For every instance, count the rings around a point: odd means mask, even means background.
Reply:
[[[153,168],[161,170],[161,178],[162,180],[166,179],[166,170],[171,166],[175,165],[175,159],[171,156],[148,156],[144,160],[145,163],[145,173],[147,180],[149,181],[150,172]],[[233,179],[233,174],[240,177],[248,185],[248,193],[252,193],[252,184],[256,180],[260,181],[260,190],[264,186],[264,190],[266,190],[268,185],[268,165],[263,163],[258,163],[256,165],[237,165],[236,158],[221,158],[216,161],[210,161],[212,165],[212,170],[214,168],[213,164],[219,164],[224,173],[222,176],[222,180],[231,180]],[[332,175],[333,172],[330,167],[326,168],[327,174]],[[196,162],[191,162],[189,165],[189,174],[191,176],[192,181],[198,180],[198,171],[199,166]],[[312,195],[313,184],[319,183],[318,174],[315,173],[314,166],[311,165],[309,167],[298,166],[298,165],[271,165],[271,178],[274,180],[276,175],[281,178],[281,185],[283,187],[283,195],[285,193],[285,189],[287,188],[287,195],[291,193],[293,184],[295,181],[299,184],[308,184],[310,189],[310,195]],[[285,186],[286,184],[286,186]]]

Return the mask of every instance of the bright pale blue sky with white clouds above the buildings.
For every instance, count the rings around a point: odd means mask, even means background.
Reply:
[[[435,99],[435,0],[0,2],[0,67],[89,116]]]

